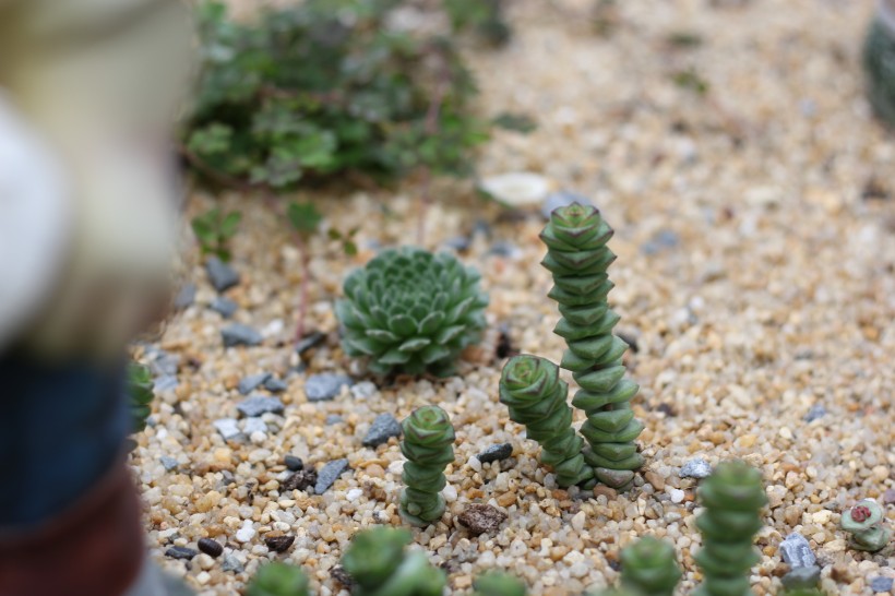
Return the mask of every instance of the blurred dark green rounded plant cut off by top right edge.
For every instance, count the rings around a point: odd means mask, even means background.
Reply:
[[[862,58],[870,105],[880,119],[895,127],[895,32],[881,17],[870,24]]]

